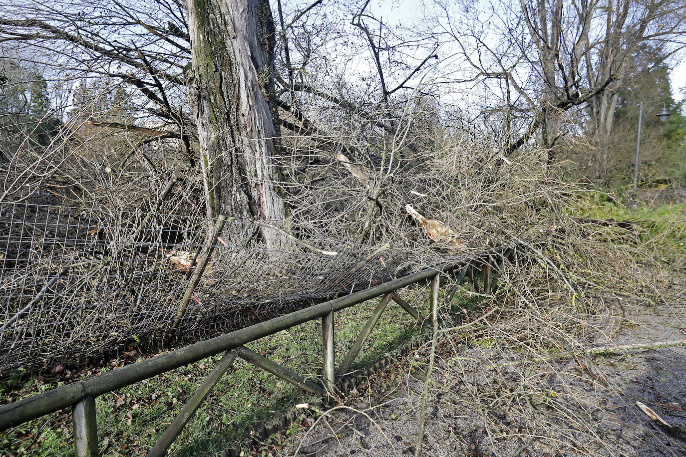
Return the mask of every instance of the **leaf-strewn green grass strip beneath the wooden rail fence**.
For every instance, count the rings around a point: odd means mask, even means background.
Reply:
[[[422,304],[420,308],[427,308],[425,294],[425,289],[414,292],[420,297],[415,301]],[[376,304],[377,300],[372,300],[336,314],[337,364]],[[399,306],[390,304],[363,345],[357,361],[375,360],[409,341],[415,333],[412,318]],[[320,375],[322,347],[318,321],[262,338],[248,347],[306,378]],[[214,356],[98,397],[96,410],[101,454],[134,456],[150,449],[220,357]],[[112,367],[92,370],[91,375],[123,365],[123,362],[118,360],[110,365]],[[20,385],[7,383],[0,386],[0,398],[5,404],[58,384],[43,378],[32,378]],[[255,423],[270,421],[295,404],[314,400],[315,397],[295,386],[237,359],[171,446],[169,455],[216,454],[249,434]],[[73,456],[71,434],[69,411],[55,413],[0,433],[0,455]]]

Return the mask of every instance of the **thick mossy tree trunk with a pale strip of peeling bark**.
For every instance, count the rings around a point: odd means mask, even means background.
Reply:
[[[189,101],[198,126],[206,211],[283,221],[275,176],[274,23],[266,0],[186,0]],[[270,32],[271,31],[271,32]],[[271,33],[271,37],[269,34]],[[261,227],[267,247],[281,235]]]

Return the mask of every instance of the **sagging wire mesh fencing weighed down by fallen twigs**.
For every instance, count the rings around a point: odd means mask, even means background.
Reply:
[[[0,203],[0,378],[214,336],[418,268],[403,251],[344,243],[335,255],[269,251],[250,243],[255,225],[230,219],[180,313],[213,226],[204,217]]]

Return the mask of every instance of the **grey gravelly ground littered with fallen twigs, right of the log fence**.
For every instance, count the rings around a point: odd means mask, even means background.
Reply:
[[[591,342],[684,340],[686,299],[683,291],[678,296],[672,304],[641,306],[623,322],[599,323],[603,331]],[[414,455],[428,352],[423,347],[391,373],[372,375],[366,393],[301,417],[254,455]],[[442,340],[422,455],[686,455],[686,441],[654,425],[637,401],[686,430],[686,347],[522,360],[521,352]]]

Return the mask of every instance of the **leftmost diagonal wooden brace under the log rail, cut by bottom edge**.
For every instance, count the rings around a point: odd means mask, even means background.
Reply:
[[[217,382],[222,379],[222,375],[226,373],[226,370],[231,366],[236,356],[238,355],[238,349],[233,349],[232,351],[226,352],[221,358],[217,366],[211,371],[207,378],[202,382],[202,385],[198,387],[196,393],[193,397],[189,399],[188,403],[183,407],[181,412],[176,416],[174,422],[169,425],[169,428],[165,433],[157,440],[154,447],[150,449],[146,457],[163,457],[167,454],[169,446],[174,443],[176,437],[181,433],[181,430],[186,426],[193,414],[200,408],[202,402],[207,397],[207,395],[212,391]]]

